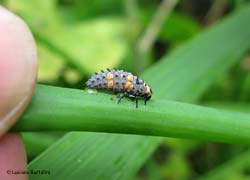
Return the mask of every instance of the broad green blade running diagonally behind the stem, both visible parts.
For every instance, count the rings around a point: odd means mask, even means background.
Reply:
[[[149,84],[152,84],[155,89],[153,90],[157,91],[154,97],[190,101],[197,99],[213,80],[218,78],[249,48],[249,19],[250,6],[248,5],[150,69],[143,77]],[[225,42],[220,37],[224,37]],[[198,44],[196,45],[196,43]],[[203,54],[204,49],[209,53]],[[237,53],[234,53],[235,51]],[[203,58],[206,61],[201,61]],[[76,140],[73,141],[72,139],[76,135],[79,138],[75,138]],[[124,136],[126,139],[122,138]],[[109,143],[110,139],[113,139],[111,143]],[[121,142],[124,145],[122,148],[119,147]],[[54,176],[31,175],[30,179],[57,179],[55,177],[59,175],[62,177],[61,179],[81,179],[84,177],[83,175],[86,175],[85,172],[93,175],[88,176],[90,179],[97,179],[96,177],[99,179],[128,179],[149,157],[159,142],[161,139],[133,135],[106,134],[103,137],[103,134],[95,136],[93,133],[69,134],[29,165],[29,169],[49,168]],[[140,143],[146,143],[147,147],[141,147]],[[81,149],[74,148],[80,145]],[[66,148],[68,146],[70,146],[69,152],[57,151],[58,147]],[[92,148],[92,151],[85,151],[85,148]],[[142,150],[143,153],[140,154]],[[110,165],[110,159],[118,157],[122,159],[119,162],[121,166]],[[130,157],[134,157],[133,161]],[[83,158],[86,158],[84,163],[77,161],[77,159]],[[72,171],[65,171],[65,166]],[[110,168],[113,170],[112,172]],[[106,172],[110,172],[108,177],[105,176]]]

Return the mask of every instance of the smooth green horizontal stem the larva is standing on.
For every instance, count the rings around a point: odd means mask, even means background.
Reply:
[[[174,101],[148,106],[112,95],[38,86],[16,131],[98,131],[250,143],[250,115]]]

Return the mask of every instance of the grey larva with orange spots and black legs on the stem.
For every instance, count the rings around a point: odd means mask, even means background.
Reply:
[[[138,107],[138,98],[144,99],[146,105],[152,96],[151,88],[143,80],[124,70],[107,69],[107,71],[95,73],[86,82],[86,86],[121,93],[118,96],[118,103],[123,97],[128,96],[136,100],[136,107]]]

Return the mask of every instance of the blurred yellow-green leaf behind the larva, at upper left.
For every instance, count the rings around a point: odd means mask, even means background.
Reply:
[[[55,0],[9,2],[9,7],[29,23],[37,39],[80,72],[90,74],[115,67],[126,54],[128,44],[122,18],[106,16],[72,24],[60,16]]]

